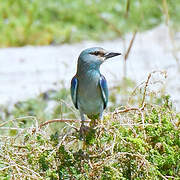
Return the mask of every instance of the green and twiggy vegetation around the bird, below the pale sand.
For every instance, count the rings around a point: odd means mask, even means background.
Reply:
[[[151,91],[151,79],[135,91],[134,82],[126,85],[130,105],[118,101],[120,83],[104,120],[84,141],[79,123],[38,128],[51,118],[78,119],[66,89],[2,107],[0,179],[179,179],[180,114],[163,90]]]

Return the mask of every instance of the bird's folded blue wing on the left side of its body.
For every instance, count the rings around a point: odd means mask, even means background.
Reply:
[[[76,109],[78,109],[77,88],[78,88],[78,79],[76,78],[76,76],[74,76],[71,80],[71,98]]]

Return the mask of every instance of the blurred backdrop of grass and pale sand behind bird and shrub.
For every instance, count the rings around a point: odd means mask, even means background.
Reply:
[[[54,107],[43,104],[49,99],[71,106],[77,58],[93,46],[123,54],[101,68],[110,94],[120,95],[110,107],[125,105],[152,71],[167,72],[155,81],[180,107],[179,0],[0,0],[1,118],[38,115]]]

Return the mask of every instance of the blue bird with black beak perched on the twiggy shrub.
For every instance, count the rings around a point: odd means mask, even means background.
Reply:
[[[100,65],[121,53],[108,52],[100,47],[85,49],[78,58],[77,72],[71,80],[71,98],[81,116],[80,135],[86,131],[85,116],[91,121],[103,118],[108,103],[108,86],[100,73]]]

